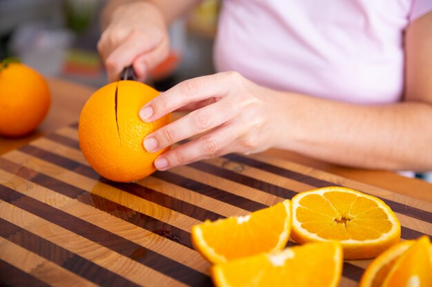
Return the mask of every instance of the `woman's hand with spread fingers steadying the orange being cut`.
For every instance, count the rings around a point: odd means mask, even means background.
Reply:
[[[155,152],[207,132],[159,156],[155,161],[159,170],[226,153],[264,151],[280,132],[277,106],[277,92],[237,72],[193,78],[161,93],[139,111],[142,120],[151,122],[180,108],[194,110],[146,136],[144,148]]]

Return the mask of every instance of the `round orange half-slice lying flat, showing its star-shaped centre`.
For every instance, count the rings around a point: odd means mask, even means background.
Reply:
[[[399,220],[372,195],[324,187],[295,195],[292,204],[297,243],[338,240],[345,259],[370,259],[400,241]]]

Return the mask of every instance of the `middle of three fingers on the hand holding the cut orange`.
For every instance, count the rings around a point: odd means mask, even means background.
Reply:
[[[237,115],[236,111],[233,112],[233,109],[230,108],[232,106],[232,103],[225,98],[202,109],[197,109],[146,136],[144,148],[148,152],[156,152],[175,144],[175,142],[222,125]]]

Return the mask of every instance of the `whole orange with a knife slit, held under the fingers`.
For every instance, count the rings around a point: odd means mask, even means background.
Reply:
[[[144,137],[167,125],[170,114],[144,123],[139,109],[159,92],[136,81],[110,83],[87,100],[79,117],[79,147],[90,166],[104,178],[132,182],[153,173],[163,149],[148,153]]]

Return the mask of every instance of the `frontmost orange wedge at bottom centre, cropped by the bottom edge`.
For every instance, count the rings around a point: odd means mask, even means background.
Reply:
[[[216,264],[217,287],[335,287],[342,276],[339,242],[311,243]]]

